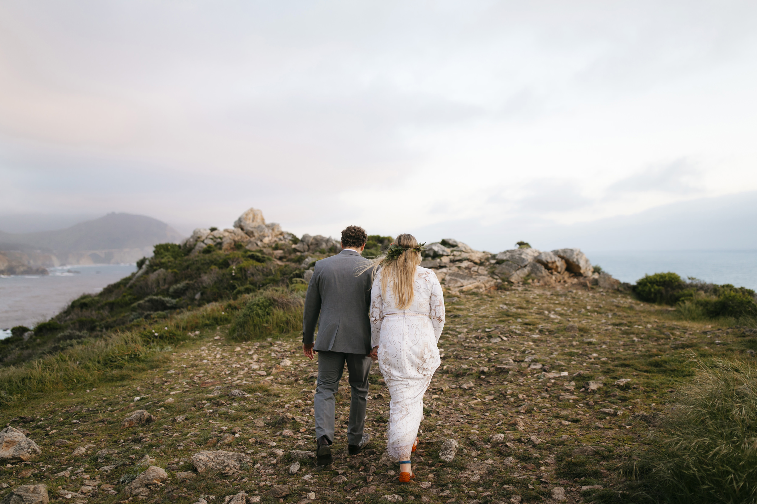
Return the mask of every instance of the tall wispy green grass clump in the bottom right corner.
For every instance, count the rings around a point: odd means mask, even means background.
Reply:
[[[625,490],[633,502],[755,503],[757,366],[690,362],[695,376],[653,424],[652,446],[622,467]]]

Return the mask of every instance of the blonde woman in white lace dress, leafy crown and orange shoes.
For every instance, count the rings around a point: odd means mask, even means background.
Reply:
[[[375,258],[370,321],[372,356],[389,388],[388,453],[400,462],[400,481],[415,478],[415,452],[423,394],[439,367],[437,342],[444,328],[444,296],[431,269],[420,267],[423,244],[399,235]]]

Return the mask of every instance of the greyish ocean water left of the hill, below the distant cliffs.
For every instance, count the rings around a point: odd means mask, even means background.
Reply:
[[[106,285],[136,271],[135,264],[96,264],[49,268],[50,275],[0,276],[0,339],[14,325],[45,322],[82,294],[97,294]]]

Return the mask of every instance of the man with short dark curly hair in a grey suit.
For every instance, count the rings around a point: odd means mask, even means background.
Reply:
[[[363,428],[366,425],[368,373],[372,363],[368,319],[372,282],[370,272],[356,276],[356,270],[369,263],[360,255],[367,238],[365,229],[347,226],[341,232],[341,252],[316,263],[307,287],[302,350],[310,359],[313,359],[313,350],[318,352],[318,382],[314,398],[318,465],[332,462],[334,394],[339,390],[345,362],[352,389],[347,430],[350,455],[359,453],[370,440],[369,434],[363,434]],[[316,323],[318,339],[313,344]]]

